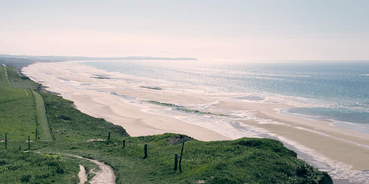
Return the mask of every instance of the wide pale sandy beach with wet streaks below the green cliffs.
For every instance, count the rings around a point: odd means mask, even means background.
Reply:
[[[121,125],[131,136],[173,132],[201,141],[275,138],[296,151],[299,158],[328,171],[336,181],[351,179],[363,183],[369,178],[365,171],[369,170],[368,134],[336,127],[332,121],[284,115],[279,109],[295,107],[287,102],[236,99],[245,94],[211,93],[206,86],[108,72],[77,61],[36,63],[22,72],[47,86],[47,90],[72,100],[81,112]],[[165,90],[139,86],[160,86]],[[228,116],[184,113],[145,100]]]

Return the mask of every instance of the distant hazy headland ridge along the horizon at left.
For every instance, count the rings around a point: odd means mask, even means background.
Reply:
[[[83,56],[27,56],[27,55],[8,55],[0,54],[0,57],[13,57],[13,58],[24,58],[31,60],[197,60],[196,58],[189,57],[140,57],[140,56],[130,56],[130,57],[83,57]]]

